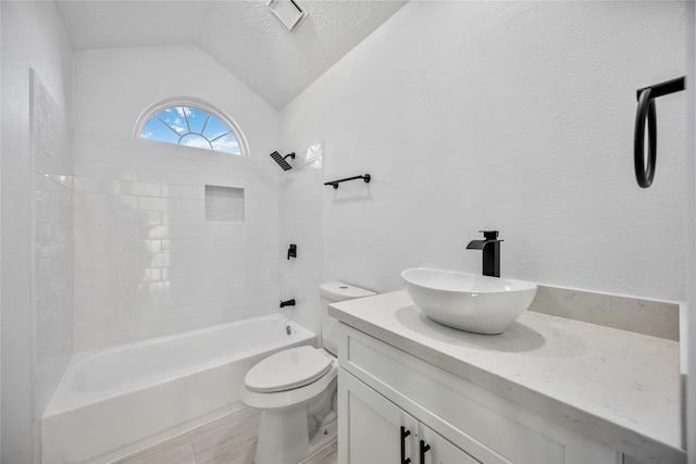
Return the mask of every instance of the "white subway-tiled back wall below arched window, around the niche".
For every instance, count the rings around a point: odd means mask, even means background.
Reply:
[[[277,311],[277,166],[74,130],[75,351]],[[244,221],[206,221],[206,186]]]

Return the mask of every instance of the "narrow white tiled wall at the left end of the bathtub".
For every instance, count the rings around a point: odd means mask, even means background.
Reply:
[[[34,71],[35,412],[40,417],[73,354],[72,130]]]

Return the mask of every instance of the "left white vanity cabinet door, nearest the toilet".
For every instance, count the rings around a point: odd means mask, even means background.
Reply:
[[[418,421],[344,369],[338,376],[338,462],[418,464]]]

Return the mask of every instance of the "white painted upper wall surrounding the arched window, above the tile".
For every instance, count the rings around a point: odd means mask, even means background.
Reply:
[[[197,97],[241,127],[252,158],[277,150],[277,112],[196,46],[76,52],[74,92],[75,128],[132,137],[149,105]]]

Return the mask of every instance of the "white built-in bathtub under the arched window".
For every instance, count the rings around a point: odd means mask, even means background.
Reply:
[[[103,464],[217,418],[241,407],[253,364],[315,340],[272,314],[78,353],[44,414],[41,462]]]

